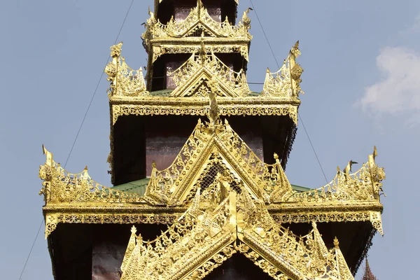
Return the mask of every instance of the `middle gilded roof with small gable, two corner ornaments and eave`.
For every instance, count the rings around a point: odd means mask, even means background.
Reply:
[[[120,56],[123,43],[111,47],[112,62],[105,72],[111,81],[109,99],[111,123],[128,115],[194,115],[205,116],[209,92],[216,92],[221,116],[289,116],[297,124],[300,105],[302,67],[298,42],[290,50],[283,66],[274,73],[267,69],[262,92],[252,92],[245,71],[233,71],[215,52],[208,53],[201,42],[200,52],[169,72],[173,89],[146,89],[143,69],[134,70]],[[184,98],[189,97],[189,98]]]

